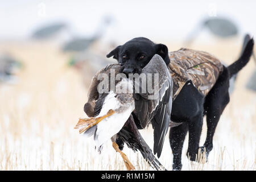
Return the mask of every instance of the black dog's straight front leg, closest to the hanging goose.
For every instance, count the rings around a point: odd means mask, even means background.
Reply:
[[[188,131],[188,123],[183,122],[181,125],[171,127],[170,129],[170,144],[172,148],[172,154],[174,155],[174,162],[172,164],[172,170],[181,170],[181,153],[185,136]]]

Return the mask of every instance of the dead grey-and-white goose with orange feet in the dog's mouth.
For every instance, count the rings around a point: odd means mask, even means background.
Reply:
[[[80,119],[75,129],[79,129],[80,133],[85,133],[88,137],[94,135],[98,151],[101,151],[107,140],[112,139],[115,150],[121,152],[116,143],[117,139],[121,139],[133,151],[141,151],[143,158],[152,167],[160,169],[162,165],[155,159],[151,149],[139,134],[138,126],[152,124],[154,154],[159,157],[171,117],[172,77],[159,55],[152,57],[138,79],[127,78],[125,74],[119,73],[120,68],[120,64],[111,64],[93,77],[88,102],[84,106],[84,111],[90,118]],[[113,73],[114,78],[121,79],[109,79]],[[102,77],[102,74],[105,76]],[[143,74],[146,80],[141,77]],[[156,77],[159,78],[157,81]],[[147,84],[152,83],[153,92],[145,89],[143,81]],[[148,85],[146,87],[149,88]],[[104,89],[105,93],[102,92]],[[126,168],[134,169],[127,157],[122,153],[121,155]]]

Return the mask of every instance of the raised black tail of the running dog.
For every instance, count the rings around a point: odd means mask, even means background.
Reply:
[[[250,38],[245,43],[245,46],[242,49],[241,56],[233,64],[229,65],[228,70],[230,73],[230,78],[233,75],[236,75],[245,65],[249,62],[251,54],[253,53],[254,40]]]

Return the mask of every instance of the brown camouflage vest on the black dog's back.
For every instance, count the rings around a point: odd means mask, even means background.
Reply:
[[[188,80],[206,96],[223,70],[220,60],[204,51],[181,48],[169,52],[169,57],[168,69],[174,81],[172,100]]]

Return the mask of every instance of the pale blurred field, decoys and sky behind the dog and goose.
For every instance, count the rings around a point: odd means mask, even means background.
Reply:
[[[249,0],[0,2],[0,169],[125,169],[111,143],[98,155],[93,139],[73,129],[86,116],[92,76],[115,63],[106,54],[144,36],[169,51],[207,51],[229,65],[246,34],[256,35],[255,7]],[[209,162],[189,162],[186,139],[184,170],[256,169],[255,63],[252,56],[232,80]],[[204,122],[201,144],[206,131]],[[141,133],[152,147],[151,126]],[[124,151],[136,169],[151,169],[141,154]],[[171,169],[168,134],[159,160]]]

